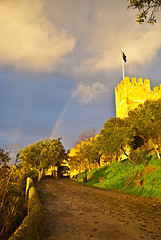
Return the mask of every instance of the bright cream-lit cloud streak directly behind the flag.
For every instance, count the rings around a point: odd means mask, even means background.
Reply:
[[[118,35],[119,42],[113,39],[111,43],[108,42],[110,48],[107,47],[107,50],[104,51],[100,50],[95,57],[83,61],[82,68],[89,68],[93,71],[109,71],[119,68],[121,65],[121,45],[124,46],[128,64],[142,66],[148,64],[161,47],[160,29],[157,27],[154,31],[139,32],[136,33],[135,37],[133,32],[128,33],[129,36],[125,34],[124,41],[121,40],[121,35]]]

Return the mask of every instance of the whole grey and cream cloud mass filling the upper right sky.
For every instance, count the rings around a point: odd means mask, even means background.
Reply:
[[[77,38],[72,58],[66,62],[68,67],[63,66],[66,74],[80,77],[84,73],[121,69],[121,48],[127,55],[128,66],[145,66],[156,56],[161,47],[159,20],[154,26],[137,24],[137,12],[127,10],[127,2],[122,0],[90,3],[90,0],[79,2],[78,6],[75,0],[53,3],[57,9],[53,21]]]

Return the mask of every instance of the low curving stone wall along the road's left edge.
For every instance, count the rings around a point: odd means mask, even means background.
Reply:
[[[28,214],[9,240],[39,240],[44,230],[44,213],[33,180],[27,179]]]

